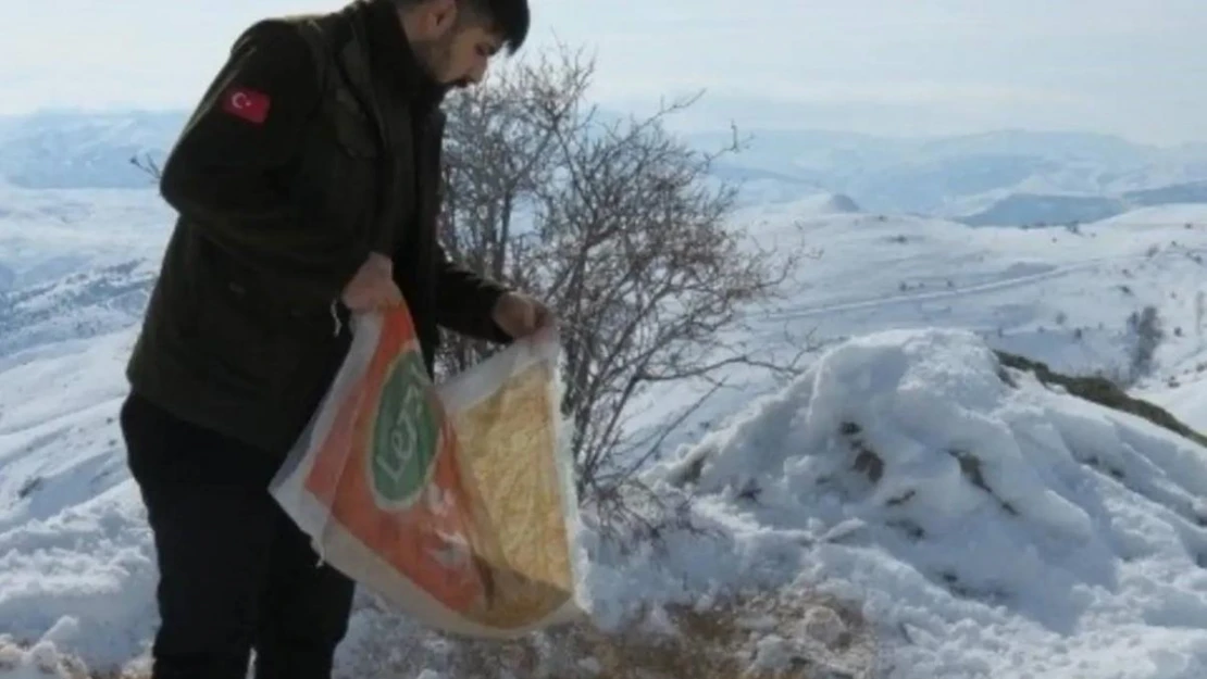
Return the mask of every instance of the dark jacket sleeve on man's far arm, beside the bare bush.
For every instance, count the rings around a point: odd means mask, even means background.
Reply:
[[[439,244],[436,250],[439,291],[436,300],[437,324],[474,339],[511,343],[512,336],[491,318],[495,303],[507,293],[507,288],[454,263]]]

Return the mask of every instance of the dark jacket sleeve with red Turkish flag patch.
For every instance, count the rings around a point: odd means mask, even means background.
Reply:
[[[320,103],[317,64],[293,28],[256,24],[234,45],[164,163],[164,199],[282,297],[338,299],[365,257],[338,224],[290,199]]]

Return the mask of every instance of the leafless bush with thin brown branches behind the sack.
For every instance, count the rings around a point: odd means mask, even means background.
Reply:
[[[742,341],[758,304],[801,257],[759,246],[730,223],[736,189],[718,181],[717,153],[687,146],[665,119],[608,119],[584,101],[593,63],[565,48],[519,64],[449,106],[443,238],[462,261],[549,300],[562,333],[579,493],[616,488],[713,391],[728,368],[791,373],[814,349],[799,340],[772,358]],[[451,345],[448,369],[482,347]],[[711,387],[654,432],[631,427],[652,387]]]

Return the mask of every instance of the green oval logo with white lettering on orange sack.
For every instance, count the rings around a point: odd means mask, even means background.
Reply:
[[[369,455],[369,486],[381,509],[410,507],[431,479],[441,428],[427,386],[421,355],[410,351],[395,361],[381,387]]]

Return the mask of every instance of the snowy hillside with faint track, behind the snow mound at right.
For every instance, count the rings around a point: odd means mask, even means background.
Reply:
[[[1077,229],[968,228],[921,217],[816,213],[799,204],[737,217],[764,246],[818,250],[765,328],[823,336],[967,328],[1073,373],[1126,357],[1126,320],[1154,305],[1173,369],[1207,341],[1207,205],[1150,207]]]

